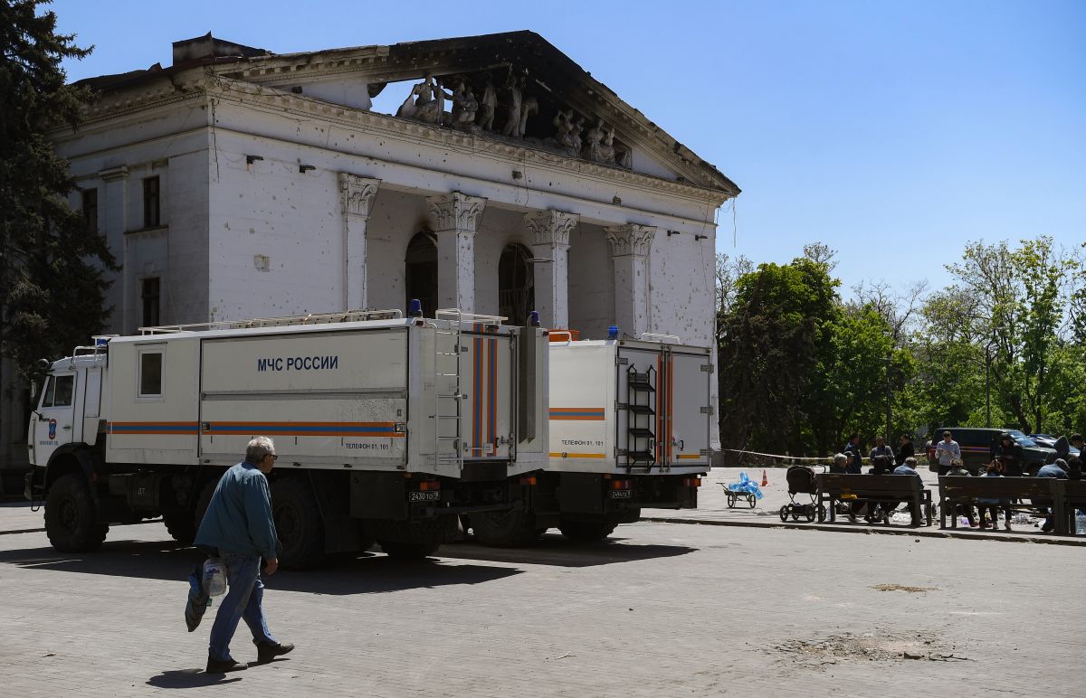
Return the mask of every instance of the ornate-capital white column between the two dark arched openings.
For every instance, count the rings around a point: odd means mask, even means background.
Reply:
[[[426,203],[438,236],[438,305],[475,313],[475,233],[487,200],[454,191]]]

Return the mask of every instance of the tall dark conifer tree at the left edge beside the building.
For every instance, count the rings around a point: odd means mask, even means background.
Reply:
[[[65,85],[61,61],[91,49],[56,34],[41,0],[0,2],[0,354],[28,372],[101,331],[114,259],[68,205],[67,162],[47,138],[79,124],[85,89]]]

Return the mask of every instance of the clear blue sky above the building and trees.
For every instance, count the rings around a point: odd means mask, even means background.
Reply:
[[[1086,241],[1086,2],[60,0],[71,79],[203,35],[277,53],[532,29],[742,189],[719,252],[838,251],[862,281],[949,282],[968,241]]]

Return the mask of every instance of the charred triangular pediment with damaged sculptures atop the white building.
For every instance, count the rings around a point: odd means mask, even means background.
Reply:
[[[232,79],[368,110],[403,93],[393,116],[714,189],[738,188],[532,31],[212,64]],[[396,93],[399,100],[399,92]]]

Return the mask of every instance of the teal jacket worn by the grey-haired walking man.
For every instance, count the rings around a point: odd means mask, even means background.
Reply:
[[[243,461],[226,471],[200,522],[195,544],[267,560],[279,557],[272,493],[260,468]]]

